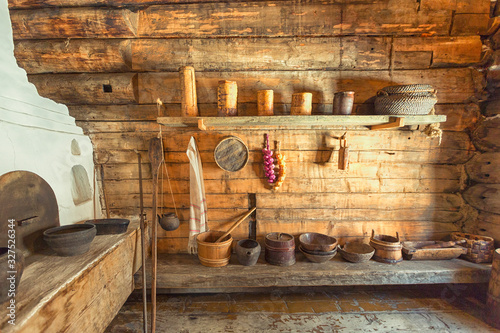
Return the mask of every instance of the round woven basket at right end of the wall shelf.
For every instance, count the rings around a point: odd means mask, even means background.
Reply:
[[[381,115],[426,115],[437,103],[435,90],[427,84],[389,86],[377,92],[375,113]]]

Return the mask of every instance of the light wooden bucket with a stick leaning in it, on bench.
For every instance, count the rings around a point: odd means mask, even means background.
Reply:
[[[219,243],[214,243],[222,235],[224,231],[207,231],[196,237],[198,259],[203,266],[222,267],[229,263],[233,238],[227,235]]]

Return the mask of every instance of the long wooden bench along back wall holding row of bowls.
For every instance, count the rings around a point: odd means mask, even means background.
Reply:
[[[148,281],[151,281],[149,267],[147,272]],[[297,262],[288,267],[270,265],[263,255],[255,266],[242,266],[233,254],[229,265],[212,268],[202,266],[193,255],[160,253],[157,286],[159,292],[182,293],[262,287],[487,283],[490,272],[490,264],[474,264],[462,259],[398,264],[370,260],[353,264],[337,254],[331,261],[316,264],[309,262],[302,253],[297,253]],[[140,274],[135,278],[136,288],[140,288]]]

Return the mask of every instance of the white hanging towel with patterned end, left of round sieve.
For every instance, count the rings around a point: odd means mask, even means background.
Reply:
[[[186,154],[189,158],[189,242],[188,252],[198,253],[196,236],[207,231],[207,201],[205,198],[205,183],[203,168],[196,140],[191,137]]]

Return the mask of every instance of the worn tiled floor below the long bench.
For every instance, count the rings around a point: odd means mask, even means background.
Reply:
[[[485,292],[438,285],[159,295],[157,332],[500,332],[482,321]],[[106,332],[141,331],[133,295]]]

